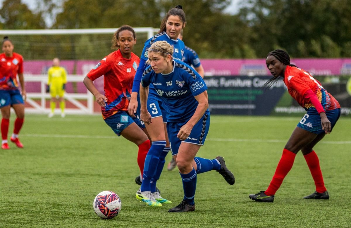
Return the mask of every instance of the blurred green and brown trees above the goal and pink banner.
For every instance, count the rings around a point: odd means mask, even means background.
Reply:
[[[230,2],[37,0],[31,11],[21,0],[5,0],[0,29],[159,28],[166,12],[182,5],[184,43],[200,58],[264,58],[277,48],[295,58],[351,57],[350,0],[247,0],[236,14],[225,11]]]

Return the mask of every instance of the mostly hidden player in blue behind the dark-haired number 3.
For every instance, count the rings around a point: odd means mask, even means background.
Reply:
[[[183,30],[181,30],[181,32],[179,33],[178,39],[183,40]],[[184,55],[181,61],[186,63],[189,66],[192,66],[196,70],[196,72],[198,72],[199,75],[202,78],[204,78],[205,76],[204,68],[201,65],[198,54],[193,49],[189,48],[188,46],[185,46]],[[176,166],[177,166],[176,161],[172,157],[172,160],[167,165],[167,170],[172,171]]]

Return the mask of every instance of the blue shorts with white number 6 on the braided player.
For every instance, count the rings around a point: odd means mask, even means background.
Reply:
[[[333,129],[340,117],[340,108],[325,111],[325,114],[327,115],[328,120],[331,122],[331,129]],[[320,124],[320,115],[315,108],[310,108],[307,110],[307,113],[303,116],[297,126],[314,134],[324,133],[322,125]]]

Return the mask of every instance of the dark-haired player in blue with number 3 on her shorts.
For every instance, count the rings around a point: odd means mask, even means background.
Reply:
[[[185,45],[183,41],[178,39],[178,35],[182,28],[184,28],[185,24],[185,13],[182,7],[178,5],[167,12],[165,18],[161,22],[159,33],[145,42],[144,49],[140,57],[140,64],[134,77],[131,100],[128,107],[128,112],[131,116],[135,116],[135,113],[137,112],[140,114],[140,106],[138,107],[138,93],[141,76],[146,68],[145,62],[148,59],[148,49],[154,42],[158,40],[165,40],[173,46],[174,59],[181,61]],[[153,85],[151,85],[151,88],[152,87]],[[156,201],[160,202],[161,204],[171,203],[170,201],[162,198],[160,194],[156,192],[156,182],[160,178],[165,164],[165,157],[170,151],[171,147],[166,130],[166,111],[154,89],[150,89],[147,107],[148,111],[152,115],[152,123],[146,126],[146,129],[150,135],[152,144],[145,159],[142,183],[140,183],[141,180],[139,179],[139,176],[135,179],[137,184],[141,184],[140,189],[137,191],[136,197],[137,199],[143,201],[146,195],[150,195],[149,193],[151,191]],[[137,110],[138,108],[139,110]],[[161,204],[155,205],[161,206]]]

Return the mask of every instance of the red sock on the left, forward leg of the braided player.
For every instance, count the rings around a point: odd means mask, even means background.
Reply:
[[[283,150],[283,155],[282,158],[280,158],[276,172],[274,173],[272,181],[269,184],[267,190],[265,191],[265,194],[267,196],[272,196],[276,194],[285,176],[291,170],[291,167],[294,164],[295,157],[296,154],[294,154],[293,152],[286,149]]]

